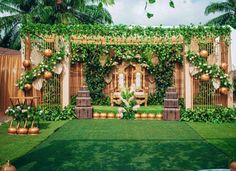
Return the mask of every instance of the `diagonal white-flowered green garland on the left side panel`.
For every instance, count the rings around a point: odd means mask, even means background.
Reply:
[[[19,89],[24,90],[25,85],[32,84],[33,81],[43,76],[46,71],[53,72],[56,64],[60,63],[65,57],[65,49],[61,48],[60,51],[53,53],[50,58],[44,58],[43,61],[35,68],[29,71],[25,71],[20,79],[17,81]]]

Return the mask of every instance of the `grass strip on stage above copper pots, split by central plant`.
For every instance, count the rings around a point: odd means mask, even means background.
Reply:
[[[117,113],[118,106],[93,106],[94,112],[98,113]],[[150,105],[150,106],[141,106],[138,109],[138,113],[154,113],[158,114],[163,111],[163,106],[161,105]]]

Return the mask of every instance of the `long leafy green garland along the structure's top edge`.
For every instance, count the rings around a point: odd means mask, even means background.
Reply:
[[[230,27],[220,26],[179,26],[173,28],[163,27],[141,27],[141,26],[125,26],[125,25],[47,25],[47,24],[29,24],[24,25],[21,29],[21,36],[25,37],[30,34],[31,37],[38,35],[62,35],[67,40],[70,36],[90,36],[90,39],[97,39],[98,36],[127,38],[134,37],[141,41],[150,40],[153,37],[158,37],[161,42],[170,42],[171,37],[182,37],[184,43],[189,44],[192,38],[205,40],[207,37],[217,38],[223,37],[229,41]]]

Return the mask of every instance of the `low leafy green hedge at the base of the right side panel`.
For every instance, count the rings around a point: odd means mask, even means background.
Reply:
[[[196,108],[181,110],[181,121],[224,123],[236,121],[236,108]]]

